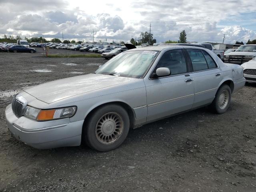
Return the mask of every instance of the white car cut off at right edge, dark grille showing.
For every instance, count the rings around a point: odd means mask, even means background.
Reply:
[[[241,66],[244,68],[244,77],[246,82],[256,83],[256,57],[246,63],[243,63]]]

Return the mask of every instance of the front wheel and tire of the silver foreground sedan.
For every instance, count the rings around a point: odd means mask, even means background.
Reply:
[[[94,150],[110,151],[124,142],[129,128],[130,119],[126,110],[119,105],[109,104],[98,108],[88,117],[82,139]]]

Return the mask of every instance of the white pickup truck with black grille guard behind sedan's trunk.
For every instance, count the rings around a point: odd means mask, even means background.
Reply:
[[[241,45],[235,52],[226,54],[225,63],[243,64],[256,56],[256,45]]]

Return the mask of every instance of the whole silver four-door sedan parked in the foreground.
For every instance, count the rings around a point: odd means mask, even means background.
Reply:
[[[244,84],[241,66],[224,64],[208,49],[148,46],[122,52],[92,74],[26,88],[5,116],[10,133],[29,146],[83,141],[109,151],[130,128],[206,105],[222,114]]]

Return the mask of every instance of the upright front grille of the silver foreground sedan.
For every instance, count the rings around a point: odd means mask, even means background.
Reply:
[[[12,100],[12,112],[16,116],[21,117],[27,104],[27,100],[21,95],[14,96]]]

